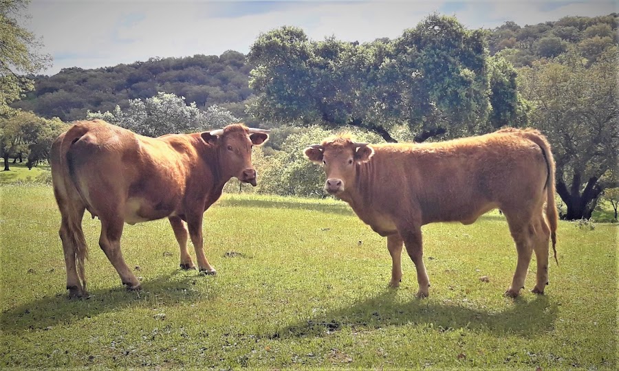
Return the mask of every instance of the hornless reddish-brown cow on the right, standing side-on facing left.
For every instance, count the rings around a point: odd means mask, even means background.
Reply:
[[[387,236],[393,262],[389,286],[400,286],[404,243],[417,269],[417,297],[428,296],[422,225],[470,224],[500,207],[518,253],[506,295],[519,295],[532,251],[537,258],[532,291],[543,293],[548,283],[549,237],[553,250],[556,243],[557,212],[554,159],[538,131],[507,128],[424,144],[369,145],[354,142],[350,135],[338,135],[306,148],[305,155],[324,166],[326,192],[349,203],[362,221]]]

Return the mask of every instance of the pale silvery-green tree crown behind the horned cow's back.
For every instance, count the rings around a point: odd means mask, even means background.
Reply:
[[[129,108],[125,110],[116,106],[113,112],[88,112],[87,119],[105,120],[148,137],[206,131],[239,122],[237,117],[219,106],[210,106],[202,111],[195,102],[187,105],[185,98],[169,93],[158,93],[144,100],[131,100]]]

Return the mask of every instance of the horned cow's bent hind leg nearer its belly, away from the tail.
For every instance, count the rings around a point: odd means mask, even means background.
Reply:
[[[120,236],[122,235],[123,223],[122,218],[101,218],[99,246],[118,272],[122,284],[127,285],[128,290],[139,290],[140,281],[138,281],[138,278],[135,278],[131,269],[127,267],[127,263],[124,262],[122,252],[120,251]]]

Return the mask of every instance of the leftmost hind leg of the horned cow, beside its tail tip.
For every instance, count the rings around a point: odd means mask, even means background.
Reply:
[[[69,290],[69,297],[87,297],[88,293],[86,292],[86,282],[83,282],[84,285],[80,282],[78,278],[78,273],[76,269],[76,258],[78,249],[83,249],[86,251],[87,247],[76,246],[77,243],[83,243],[84,241],[84,232],[82,231],[81,223],[82,217],[84,216],[85,207],[83,205],[76,206],[77,210],[73,211],[74,215],[69,215],[71,212],[70,208],[67,207],[66,201],[58,200],[59,209],[62,214],[61,228],[58,231],[60,238],[63,243],[63,251],[65,254],[65,267],[67,269],[67,290]],[[76,223],[71,223],[70,221],[79,221]]]

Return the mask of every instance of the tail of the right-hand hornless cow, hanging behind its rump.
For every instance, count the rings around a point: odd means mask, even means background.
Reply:
[[[524,137],[534,142],[541,148],[542,155],[546,161],[546,183],[544,188],[546,190],[546,219],[550,227],[550,239],[552,241],[552,251],[554,253],[554,261],[558,265],[558,259],[556,258],[556,228],[558,225],[558,212],[556,210],[556,203],[554,202],[555,182],[554,182],[554,157],[550,150],[550,144],[544,135],[539,131],[526,129],[521,131]]]

